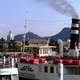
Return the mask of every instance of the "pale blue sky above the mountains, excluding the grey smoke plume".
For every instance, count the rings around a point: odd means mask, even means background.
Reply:
[[[80,0],[67,0],[80,13]],[[52,8],[46,0],[0,0],[0,37],[31,31],[39,36],[58,34],[71,27],[71,17]],[[24,28],[26,22],[26,28]]]

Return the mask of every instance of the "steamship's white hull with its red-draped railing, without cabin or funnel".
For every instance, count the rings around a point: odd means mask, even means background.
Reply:
[[[63,80],[80,79],[80,60],[54,59],[53,62],[48,62],[45,58],[23,57],[18,68],[21,79],[62,80],[63,77]]]

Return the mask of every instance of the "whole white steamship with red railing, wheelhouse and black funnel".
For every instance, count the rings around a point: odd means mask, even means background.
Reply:
[[[20,79],[30,80],[79,80],[79,25],[80,20],[72,19],[71,41],[69,53],[64,56],[62,41],[59,41],[60,56],[53,57],[50,46],[45,46],[48,51],[43,53],[44,47],[39,47],[38,57],[22,56],[18,62]],[[41,52],[42,51],[42,52]],[[45,57],[47,56],[47,57]]]

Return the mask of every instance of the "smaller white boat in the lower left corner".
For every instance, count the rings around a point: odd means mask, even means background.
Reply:
[[[14,58],[0,58],[0,79],[19,80],[18,69],[14,66]]]

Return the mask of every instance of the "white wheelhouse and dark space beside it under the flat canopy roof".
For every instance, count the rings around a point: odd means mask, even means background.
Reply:
[[[25,46],[26,54],[31,54],[34,57],[54,56],[56,55],[54,48],[56,48],[56,46]]]

